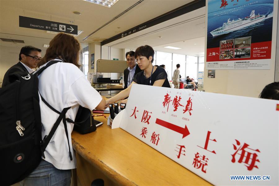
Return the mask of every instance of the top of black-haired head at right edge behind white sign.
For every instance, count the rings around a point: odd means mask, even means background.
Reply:
[[[273,82],[263,88],[260,98],[279,100],[279,82]]]

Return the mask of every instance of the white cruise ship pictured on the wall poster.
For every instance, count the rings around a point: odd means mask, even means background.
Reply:
[[[230,33],[236,30],[243,29],[245,27],[251,26],[253,24],[259,23],[261,21],[265,20],[265,15],[255,15],[255,10],[252,10],[249,17],[245,18],[238,18],[237,20],[230,20],[228,19],[228,22],[223,23],[223,26],[219,27],[218,29],[215,29],[211,31],[210,33],[212,36],[219,36],[225,33]]]

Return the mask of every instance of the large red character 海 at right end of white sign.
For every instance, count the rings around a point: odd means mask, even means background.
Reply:
[[[232,154],[232,162],[234,163],[236,161],[236,155],[240,155],[239,159],[238,159],[238,163],[245,163],[246,167],[248,170],[252,170],[254,167],[258,169],[258,166],[255,165],[256,162],[260,162],[257,159],[257,153],[260,153],[259,149],[252,149],[252,148],[248,148],[249,145],[244,143],[243,146],[240,145],[240,142],[238,140],[236,140],[237,145],[232,144],[233,145],[233,149],[236,150],[236,152],[234,154]],[[237,146],[239,146],[239,148],[237,148]],[[238,153],[239,152],[239,153]]]

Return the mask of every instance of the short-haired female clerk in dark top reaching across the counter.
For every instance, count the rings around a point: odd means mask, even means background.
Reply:
[[[154,50],[152,47],[145,45],[138,47],[135,51],[135,58],[142,70],[135,75],[135,78],[131,85],[125,90],[119,92],[117,95],[106,100],[106,104],[114,103],[119,100],[123,100],[128,97],[133,84],[150,85],[150,86],[163,86],[169,87],[168,75],[166,71],[157,65],[153,66]]]

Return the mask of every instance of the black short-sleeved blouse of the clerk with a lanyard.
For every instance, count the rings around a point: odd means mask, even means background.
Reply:
[[[155,65],[155,66],[157,67],[157,69],[151,75],[151,77],[152,77],[151,85],[153,85],[154,82],[159,79],[165,79],[165,82],[163,83],[162,87],[170,88],[170,83],[168,82],[168,75],[167,75],[165,69],[163,69],[162,67],[160,67],[158,65]],[[133,81],[136,82],[137,84],[149,85],[150,77],[146,79],[144,76],[144,70],[143,70],[135,75],[135,78]]]

